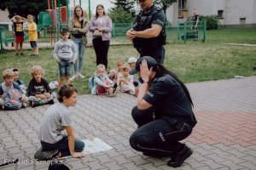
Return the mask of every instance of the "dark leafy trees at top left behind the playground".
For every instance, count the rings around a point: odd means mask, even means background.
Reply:
[[[66,0],[60,1],[63,6],[66,5]],[[38,19],[38,14],[48,8],[46,0],[1,0],[0,9],[9,11],[9,18],[15,14],[19,14],[26,18],[27,14],[32,14]]]

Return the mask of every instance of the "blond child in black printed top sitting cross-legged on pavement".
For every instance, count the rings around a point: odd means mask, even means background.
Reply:
[[[28,84],[27,95],[32,107],[54,104],[55,93],[51,92],[48,82],[43,78],[44,69],[40,65],[31,68],[32,80]]]

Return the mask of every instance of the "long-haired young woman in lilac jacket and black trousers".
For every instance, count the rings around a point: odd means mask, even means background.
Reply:
[[[108,48],[112,31],[112,20],[106,16],[104,6],[96,6],[96,15],[90,20],[89,30],[93,32],[92,44],[96,53],[96,65],[105,65],[108,68]],[[95,31],[102,32],[101,35]]]

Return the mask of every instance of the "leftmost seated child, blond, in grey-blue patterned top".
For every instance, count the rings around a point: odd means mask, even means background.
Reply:
[[[3,81],[0,85],[0,106],[5,110],[18,110],[25,107],[26,95],[22,93],[20,86],[14,81],[15,73],[12,69],[3,71]]]

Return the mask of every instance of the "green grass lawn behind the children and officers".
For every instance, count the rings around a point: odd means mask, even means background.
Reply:
[[[172,33],[172,32],[169,32]],[[122,42],[126,42],[125,37]],[[115,38],[114,41],[119,41]],[[256,71],[256,47],[227,45],[226,43],[249,43],[256,45],[255,28],[233,28],[207,31],[205,43],[171,41],[166,44],[165,65],[180,77],[183,82],[201,82],[232,78],[235,75],[253,76]],[[7,68],[19,68],[21,79],[28,84],[31,79],[32,65],[42,65],[45,78],[50,82],[58,79],[58,65],[52,56],[53,49],[40,49],[38,58],[17,57],[14,51],[0,54],[0,71]],[[115,67],[116,61],[137,56],[132,45],[111,46],[108,52],[108,70]],[[94,49],[86,48],[84,56],[83,80],[73,82],[79,88],[79,94],[90,94],[88,78],[96,70]]]

